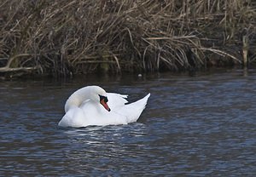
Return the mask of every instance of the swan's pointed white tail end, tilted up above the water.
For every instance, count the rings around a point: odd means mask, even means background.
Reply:
[[[125,105],[125,115],[128,115],[128,123],[136,122],[145,109],[150,94],[147,94],[143,99],[137,100],[131,104]]]

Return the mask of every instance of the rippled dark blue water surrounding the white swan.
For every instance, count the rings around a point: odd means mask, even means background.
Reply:
[[[151,93],[137,123],[58,128],[84,85]],[[0,176],[254,176],[256,72],[0,83]]]

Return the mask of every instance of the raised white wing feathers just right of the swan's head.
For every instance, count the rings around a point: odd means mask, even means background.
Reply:
[[[125,103],[128,103],[126,98],[128,95],[125,94],[114,94],[114,93],[107,93],[108,97],[108,106],[110,109],[119,107],[119,106],[125,106]]]

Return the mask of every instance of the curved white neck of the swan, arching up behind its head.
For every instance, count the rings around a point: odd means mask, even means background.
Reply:
[[[71,96],[67,99],[65,104],[65,112],[67,112],[72,107],[79,107],[85,100],[91,100],[90,98],[91,88],[85,87],[80,88],[75,91]]]

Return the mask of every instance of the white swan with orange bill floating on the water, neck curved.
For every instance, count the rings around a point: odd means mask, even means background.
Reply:
[[[60,127],[81,128],[89,125],[105,126],[136,122],[145,109],[150,94],[131,104],[128,95],[107,93],[99,86],[86,86],[67,99],[65,115]]]

